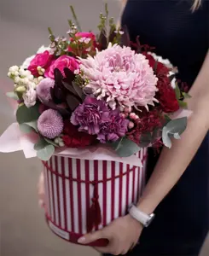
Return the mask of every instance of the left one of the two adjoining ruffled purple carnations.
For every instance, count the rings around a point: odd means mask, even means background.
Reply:
[[[72,114],[73,125],[80,125],[78,131],[85,131],[89,134],[98,134],[100,125],[107,121],[110,110],[102,100],[87,96],[84,103],[79,105]]]

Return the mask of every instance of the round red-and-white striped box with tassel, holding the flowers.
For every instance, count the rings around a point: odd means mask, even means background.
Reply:
[[[45,216],[57,236],[78,238],[124,216],[144,187],[147,149],[137,156],[143,167],[110,160],[80,160],[61,156],[43,162]],[[90,246],[105,246],[96,241]]]

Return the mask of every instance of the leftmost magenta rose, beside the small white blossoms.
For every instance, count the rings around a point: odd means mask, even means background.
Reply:
[[[35,77],[38,77],[39,74],[38,74],[37,67],[42,67],[45,69],[45,71],[47,71],[53,59],[54,59],[54,55],[50,55],[49,51],[45,50],[43,53],[37,54],[34,57],[34,59],[32,59],[28,67],[28,70],[30,70]]]

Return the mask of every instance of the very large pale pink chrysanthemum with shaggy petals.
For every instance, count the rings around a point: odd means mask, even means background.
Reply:
[[[146,107],[154,105],[157,78],[148,60],[129,47],[109,44],[96,56],[80,59],[80,68],[89,79],[88,87],[98,99],[104,98],[110,108],[119,105]]]

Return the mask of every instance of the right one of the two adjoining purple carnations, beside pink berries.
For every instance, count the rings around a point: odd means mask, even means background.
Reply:
[[[109,113],[106,122],[100,125],[100,133],[97,138],[101,143],[116,142],[120,137],[124,137],[128,131],[129,120],[120,116],[119,109]]]

